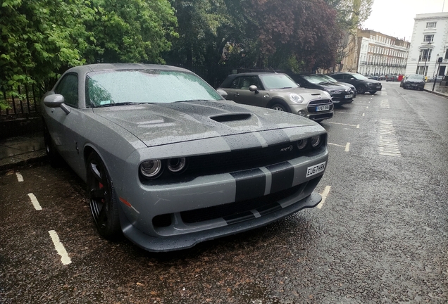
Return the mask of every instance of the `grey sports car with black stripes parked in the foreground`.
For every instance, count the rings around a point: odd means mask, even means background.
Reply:
[[[42,103],[49,158],[62,156],[87,182],[106,239],[123,232],[148,251],[173,251],[321,201],[323,127],[226,101],[188,70],[83,65]]]

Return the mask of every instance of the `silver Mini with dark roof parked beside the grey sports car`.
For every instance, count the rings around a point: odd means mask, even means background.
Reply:
[[[226,99],[236,103],[294,113],[317,122],[333,117],[333,103],[328,92],[301,88],[286,74],[232,74],[219,89],[228,94]]]

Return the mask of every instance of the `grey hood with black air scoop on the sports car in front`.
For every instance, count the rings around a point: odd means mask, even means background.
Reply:
[[[146,146],[316,125],[297,115],[233,101],[115,106],[94,108],[94,113],[123,127]]]

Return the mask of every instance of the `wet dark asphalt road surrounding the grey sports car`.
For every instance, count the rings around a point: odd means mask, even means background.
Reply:
[[[321,208],[187,251],[101,239],[66,167],[1,175],[0,303],[448,303],[448,99],[382,84],[322,123]]]

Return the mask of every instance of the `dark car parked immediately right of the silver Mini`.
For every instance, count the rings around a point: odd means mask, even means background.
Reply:
[[[327,91],[335,106],[340,106],[344,103],[351,103],[356,96],[353,89],[340,82],[331,82],[328,78],[319,74],[295,74],[290,77],[306,89],[321,89]]]

